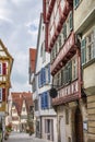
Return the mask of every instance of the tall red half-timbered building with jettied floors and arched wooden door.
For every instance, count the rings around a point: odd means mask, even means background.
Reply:
[[[43,1],[45,44],[58,93],[52,106],[57,111],[59,142],[87,141],[86,95],[82,90],[81,40],[75,32],[74,2],[76,0]]]

